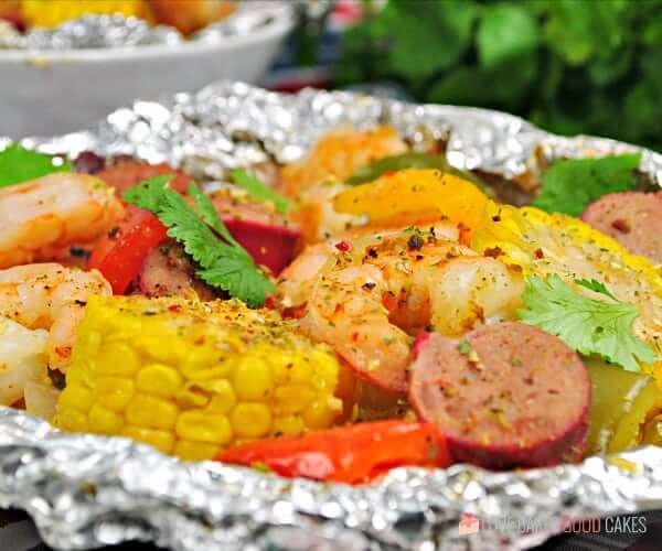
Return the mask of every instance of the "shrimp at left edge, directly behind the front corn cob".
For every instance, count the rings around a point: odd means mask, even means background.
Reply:
[[[0,270],[0,317],[29,329],[49,331],[52,369],[65,371],[75,329],[89,296],[110,295],[110,284],[96,270],[84,272],[56,263],[17,266]]]

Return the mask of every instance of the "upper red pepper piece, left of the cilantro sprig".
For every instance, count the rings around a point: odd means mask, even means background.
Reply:
[[[142,208],[132,208],[122,224],[113,228],[96,246],[87,262],[99,270],[115,294],[124,294],[140,273],[149,251],[168,239],[159,218]]]

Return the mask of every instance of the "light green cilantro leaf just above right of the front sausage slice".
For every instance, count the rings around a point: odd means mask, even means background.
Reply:
[[[598,292],[605,288],[611,295],[604,284],[588,284]],[[597,354],[627,371],[640,371],[639,361],[655,359],[652,348],[632,334],[632,322],[639,316],[634,304],[589,299],[556,274],[545,280],[528,278],[522,298],[526,309],[517,311],[520,320],[558,336],[584,355]]]

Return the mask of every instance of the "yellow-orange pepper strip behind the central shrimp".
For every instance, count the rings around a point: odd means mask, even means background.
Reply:
[[[408,169],[342,192],[333,199],[339,213],[367,215],[374,225],[447,220],[470,235],[483,224],[488,197],[467,180],[438,170]]]

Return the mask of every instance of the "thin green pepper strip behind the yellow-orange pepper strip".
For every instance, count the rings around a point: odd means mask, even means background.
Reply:
[[[375,161],[367,166],[362,166],[349,179],[345,180],[346,184],[357,185],[373,182],[378,177],[383,176],[388,172],[398,172],[406,169],[436,169],[441,171],[444,174],[452,174],[453,176],[461,177],[472,182],[478,187],[484,191],[485,184],[479,177],[471,174],[468,171],[461,171],[452,168],[448,164],[448,161],[444,155],[434,153],[403,153],[401,155],[385,156]]]

